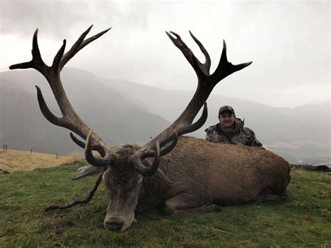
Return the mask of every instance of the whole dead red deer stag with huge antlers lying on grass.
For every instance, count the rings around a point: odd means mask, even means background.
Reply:
[[[42,73],[49,82],[63,115],[56,117],[50,112],[41,89],[36,86],[38,103],[44,117],[52,124],[70,129],[85,140],[84,143],[71,133],[73,141],[84,147],[85,157],[91,164],[81,177],[103,173],[102,180],[107,196],[107,214],[103,222],[105,229],[124,231],[131,226],[135,211],[140,212],[162,204],[166,214],[177,214],[216,212],[220,210],[219,205],[254,201],[261,203],[270,196],[287,198],[290,167],[276,154],[255,147],[209,143],[187,136],[178,138],[203,126],[207,119],[205,101],[215,85],[251,64],[229,63],[226,43],[223,41],[219,65],[214,73],[210,74],[209,54],[191,32],[193,40],[205,56],[205,63],[196,58],[179,35],[166,32],[198,77],[196,93],[184,112],[143,147],[124,145],[117,152],[113,152],[73,110],[60,78],[61,69],[78,51],[109,30],[85,39],[91,27],[84,31],[65,54],[64,40],[52,66],[47,66],[41,58],[37,29],[32,43],[31,61],[15,64],[10,66],[10,69],[34,68]],[[202,116],[192,124],[202,107]],[[100,153],[101,158],[95,157],[92,150]]]

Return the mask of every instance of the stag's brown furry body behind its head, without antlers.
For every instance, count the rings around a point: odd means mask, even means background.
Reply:
[[[138,211],[165,203],[168,214],[178,212],[169,209],[168,199],[181,194],[194,199],[193,205],[190,201],[186,209],[212,203],[260,202],[268,194],[286,198],[290,181],[290,166],[277,154],[256,147],[210,143],[187,136],[179,138],[172,152],[162,157],[160,168],[174,184],[145,177]]]

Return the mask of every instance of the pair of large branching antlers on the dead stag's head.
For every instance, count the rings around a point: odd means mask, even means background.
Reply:
[[[91,26],[92,27],[92,26]],[[91,163],[93,166],[108,166],[111,163],[117,161],[118,156],[114,152],[111,151],[110,147],[105,144],[105,142],[93,133],[89,126],[85,124],[82,119],[77,115],[71,103],[68,101],[68,97],[66,96],[66,92],[64,92],[64,88],[61,83],[60,79],[60,72],[61,69],[65,66],[65,64],[85,45],[88,45],[92,41],[96,40],[98,37],[105,34],[109,29],[102,31],[95,36],[91,36],[84,40],[87,36],[89,31],[91,30],[89,27],[84,33],[78,38],[71,49],[64,54],[64,50],[66,48],[66,40],[64,40],[63,45],[57,52],[54,57],[52,66],[47,66],[43,59],[41,58],[41,53],[38,48],[38,29],[36,29],[34,33],[34,38],[32,42],[32,59],[31,61],[24,62],[21,64],[15,64],[10,66],[10,69],[26,69],[26,68],[34,68],[43,74],[49,82],[52,92],[57,100],[57,104],[61,110],[63,117],[59,118],[50,112],[50,109],[47,107],[45,100],[43,99],[43,94],[41,93],[41,89],[36,86],[37,88],[37,95],[38,95],[38,103],[39,107],[41,108],[41,112],[45,116],[45,118],[50,121],[52,124],[57,126],[62,126],[66,129],[70,129],[74,133],[77,133],[78,136],[86,140],[86,143],[78,140],[73,136],[71,133],[71,138],[73,141],[78,144],[80,147],[85,148],[85,156],[87,161]],[[170,34],[171,33],[171,34]],[[151,140],[145,146],[140,148],[138,152],[131,155],[129,158],[129,162],[135,166],[135,169],[141,175],[150,176],[159,171],[159,175],[163,177],[165,180],[167,178],[161,170],[158,170],[160,156],[168,154],[175,145],[177,144],[177,139],[179,136],[182,136],[185,133],[190,133],[199,129],[205,123],[207,119],[207,104],[205,101],[207,100],[209,94],[212,92],[212,89],[215,85],[221,81],[223,78],[226,78],[228,75],[234,73],[235,71],[240,71],[242,68],[249,66],[251,62],[233,65],[228,62],[226,57],[226,43],[223,41],[223,51],[221,54],[221,59],[219,61],[219,65],[217,66],[216,70],[212,75],[210,75],[210,65],[211,60],[207,50],[203,47],[203,45],[198,41],[198,39],[193,36],[190,31],[190,34],[194,41],[198,44],[201,52],[205,55],[205,63],[201,63],[193,52],[187,47],[187,45],[182,41],[178,34],[174,32],[166,32],[169,36],[170,40],[182,51],[184,57],[186,57],[189,64],[193,67],[194,71],[196,71],[196,75],[198,77],[198,87],[196,89],[196,93],[194,94],[193,98],[186,106],[185,110],[182,114],[175,120],[167,129],[165,129],[162,133],[160,133],[156,138]],[[198,114],[200,108],[204,105],[203,114],[201,115],[200,119],[194,124],[192,124],[193,119]],[[171,143],[170,143],[171,142]],[[167,145],[170,143],[170,145]],[[98,151],[102,158],[97,159],[93,156],[91,150],[94,149]],[[145,166],[142,161],[147,157],[154,157],[154,162],[151,166]]]

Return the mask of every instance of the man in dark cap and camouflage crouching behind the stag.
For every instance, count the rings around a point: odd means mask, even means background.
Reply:
[[[205,140],[210,142],[262,148],[255,133],[244,127],[244,121],[235,117],[235,110],[228,105],[219,109],[219,124],[209,126],[205,132],[207,133]]]

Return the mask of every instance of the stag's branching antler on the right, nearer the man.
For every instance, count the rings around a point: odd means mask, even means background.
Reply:
[[[175,147],[175,143],[177,143],[177,138],[182,136],[185,133],[190,133],[198,130],[207,119],[207,98],[209,94],[212,92],[212,89],[217,85],[219,81],[223,78],[226,78],[228,75],[234,73],[235,71],[240,71],[242,68],[249,66],[252,62],[233,65],[228,62],[226,57],[226,42],[223,41],[223,51],[221,54],[221,59],[219,61],[219,65],[212,75],[210,75],[209,70],[211,66],[211,59],[207,50],[203,47],[203,44],[198,41],[198,39],[193,36],[191,31],[189,32],[193,40],[198,44],[201,52],[205,55],[205,63],[201,63],[193,52],[189,49],[189,47],[182,41],[182,38],[178,34],[174,32],[166,32],[172,43],[175,44],[179,50],[182,51],[184,57],[186,57],[189,64],[193,67],[194,71],[196,71],[196,75],[198,77],[198,87],[196,89],[196,93],[193,98],[186,106],[185,110],[182,114],[175,120],[167,129],[162,131],[158,136],[149,141],[146,145],[138,150],[135,154],[131,155],[131,163],[138,170],[138,172],[142,175],[151,175],[158,170],[159,156],[165,155],[170,152],[171,149]],[[175,36],[175,37],[174,37]],[[200,108],[203,108],[203,115],[200,117],[198,122],[192,124],[193,119],[198,114]],[[173,140],[173,141],[172,141]],[[170,145],[163,148],[164,152],[159,152],[159,146],[163,147],[172,141]],[[147,157],[154,156],[154,163],[152,166],[143,166],[142,160]]]

